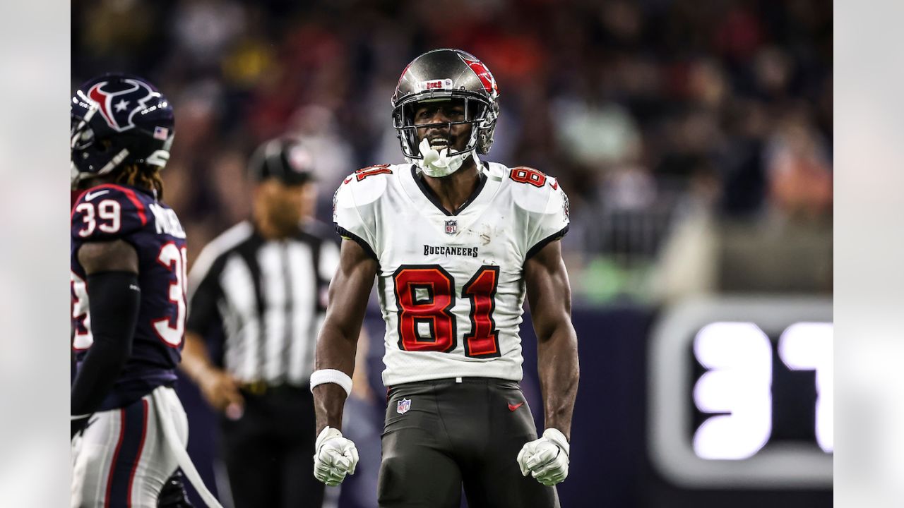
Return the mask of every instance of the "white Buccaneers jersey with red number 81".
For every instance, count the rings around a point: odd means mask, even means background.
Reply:
[[[476,192],[446,212],[414,165],[351,174],[334,196],[344,237],[380,266],[383,384],[454,377],[521,381],[524,262],[568,230],[558,182],[484,164]]]

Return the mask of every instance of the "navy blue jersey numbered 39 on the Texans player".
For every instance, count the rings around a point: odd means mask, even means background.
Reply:
[[[98,410],[127,406],[175,381],[185,329],[185,231],[175,212],[144,189],[103,184],[82,193],[71,215],[72,327],[76,360],[93,343],[85,270],[78,251],[89,241],[125,240],[138,254],[141,306],[132,354]]]

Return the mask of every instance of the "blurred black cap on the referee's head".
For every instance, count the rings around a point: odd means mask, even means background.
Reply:
[[[254,151],[248,161],[248,174],[252,182],[276,178],[287,185],[297,185],[314,180],[314,157],[297,139],[278,137]]]

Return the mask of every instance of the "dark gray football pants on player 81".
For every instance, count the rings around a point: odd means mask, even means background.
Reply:
[[[555,488],[521,475],[516,460],[536,438],[517,382],[464,378],[392,387],[380,506],[458,508],[464,485],[470,508],[558,508]]]

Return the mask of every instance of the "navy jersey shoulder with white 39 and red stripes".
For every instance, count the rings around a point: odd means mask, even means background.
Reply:
[[[141,230],[151,219],[144,201],[144,196],[123,185],[91,187],[72,207],[72,238],[111,240]]]

